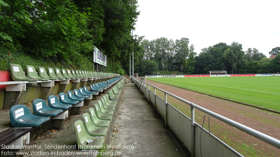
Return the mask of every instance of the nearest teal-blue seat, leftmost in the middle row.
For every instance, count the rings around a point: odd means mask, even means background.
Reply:
[[[50,120],[33,115],[25,105],[14,105],[10,109],[10,121],[14,127],[36,127]]]

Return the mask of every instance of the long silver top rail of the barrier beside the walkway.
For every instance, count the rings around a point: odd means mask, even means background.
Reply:
[[[200,107],[200,106],[198,106],[198,105],[196,105],[196,104],[194,104],[194,103],[191,103],[191,102],[189,102],[189,101],[187,101],[187,100],[185,100],[185,99],[182,99],[182,98],[180,98],[180,97],[178,97],[178,96],[176,96],[176,95],[173,95],[173,94],[171,94],[171,93],[169,93],[169,92],[167,92],[167,91],[165,91],[165,90],[162,90],[162,89],[160,89],[160,88],[157,88],[157,87],[155,87],[155,86],[153,86],[153,85],[151,85],[151,84],[149,84],[149,83],[147,83],[147,84],[150,85],[150,86],[152,86],[152,87],[154,87],[154,88],[156,88],[156,89],[158,89],[158,90],[160,90],[160,91],[162,91],[162,92],[164,92],[164,93],[166,93],[167,95],[172,96],[172,97],[175,98],[175,99],[178,99],[178,100],[180,100],[180,101],[182,101],[182,102],[184,102],[184,103],[190,105],[190,106],[193,107],[193,108],[196,108],[196,109],[198,109],[198,110],[200,110],[200,111],[202,111],[202,112],[204,112],[204,113],[206,113],[206,114],[208,114],[208,115],[210,115],[210,116],[212,116],[212,117],[214,117],[214,118],[219,119],[219,120],[222,121],[222,122],[225,122],[225,123],[227,123],[227,124],[229,124],[229,125],[231,125],[231,126],[237,128],[237,129],[239,129],[239,130],[241,130],[241,131],[243,131],[243,132],[248,133],[249,135],[252,135],[252,136],[254,136],[254,137],[256,137],[256,138],[258,138],[258,139],[260,139],[260,140],[262,140],[262,141],[264,141],[264,142],[266,142],[266,143],[268,143],[268,144],[270,144],[270,145],[273,145],[274,147],[276,147],[276,148],[278,148],[278,149],[280,149],[280,140],[278,140],[278,139],[276,139],[276,138],[273,138],[273,137],[271,137],[271,136],[268,136],[268,135],[266,135],[266,134],[264,134],[264,133],[262,133],[262,132],[258,132],[258,131],[256,131],[256,130],[250,128],[250,127],[247,127],[247,126],[245,126],[245,125],[243,125],[243,124],[240,124],[240,123],[238,123],[238,122],[235,122],[235,121],[233,121],[233,120],[231,120],[231,119],[229,119],[229,118],[226,118],[226,117],[224,117],[224,116],[221,116],[220,114],[217,114],[217,113],[212,112],[212,111],[210,111],[210,110],[208,110],[208,109],[205,109],[205,108],[203,108],[203,107]]]

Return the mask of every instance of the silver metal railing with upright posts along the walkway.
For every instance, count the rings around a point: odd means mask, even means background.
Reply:
[[[151,91],[150,90],[150,86],[154,88],[154,91],[153,91],[154,92],[154,96],[156,96],[156,89],[162,91],[164,93],[164,96],[165,96],[164,101],[165,101],[165,105],[166,105],[165,106],[166,115],[167,115],[167,95],[170,95],[171,97],[173,97],[173,98],[175,98],[177,100],[180,100],[181,102],[183,102],[185,104],[188,104],[191,107],[191,156],[192,157],[195,156],[195,138],[194,138],[195,137],[195,109],[198,109],[198,110],[200,110],[200,111],[202,111],[202,112],[204,112],[204,113],[206,113],[206,114],[208,114],[208,115],[210,115],[210,116],[212,116],[212,117],[214,117],[216,119],[219,119],[222,122],[225,122],[225,123],[227,123],[227,124],[237,128],[237,129],[239,129],[239,130],[241,130],[243,132],[246,132],[249,135],[252,135],[252,136],[258,138],[259,140],[262,140],[262,141],[264,141],[264,142],[266,142],[266,143],[268,143],[270,145],[273,145],[274,147],[280,149],[280,140],[278,140],[278,139],[275,139],[275,138],[273,138],[271,136],[268,136],[268,135],[266,135],[266,134],[264,134],[262,132],[258,132],[256,130],[250,128],[250,127],[247,127],[247,126],[245,126],[243,124],[240,124],[238,122],[235,122],[235,121],[233,121],[233,120],[231,120],[229,118],[221,116],[221,115],[219,115],[219,114],[217,114],[215,112],[212,112],[212,111],[210,111],[208,109],[205,109],[205,108],[203,108],[203,107],[201,107],[199,105],[191,103],[191,102],[189,102],[189,101],[187,101],[185,99],[182,99],[182,98],[180,98],[180,97],[178,97],[176,95],[173,95],[173,94],[171,94],[171,93],[169,93],[169,92],[167,92],[165,90],[162,90],[162,89],[160,89],[160,88],[158,88],[158,87],[156,87],[154,85],[151,85],[151,84],[149,84],[149,83],[147,83],[145,81],[139,80],[139,79],[137,79],[135,77],[134,77],[134,83],[135,84],[138,83],[142,87],[145,87],[145,91],[143,91],[143,94],[145,95],[145,97],[146,97],[146,85],[148,85],[148,92]],[[150,101],[149,97],[147,99],[148,99],[148,101]],[[165,121],[165,124],[167,125],[167,116],[165,116],[164,121]]]

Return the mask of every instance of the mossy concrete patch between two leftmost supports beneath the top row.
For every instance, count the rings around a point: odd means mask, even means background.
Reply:
[[[22,92],[18,104],[28,103],[34,99],[39,99],[41,85],[26,87],[26,90]]]

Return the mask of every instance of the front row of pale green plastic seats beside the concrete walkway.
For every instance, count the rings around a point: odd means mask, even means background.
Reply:
[[[107,81],[108,83],[112,81]],[[105,94],[98,104],[94,104],[94,109],[90,108],[89,113],[83,114],[83,121],[78,120],[74,123],[77,137],[78,148],[80,150],[94,150],[94,146],[103,145],[110,120],[113,118],[114,111],[120,94],[122,92],[124,80],[109,91],[109,96]],[[111,94],[110,94],[111,93]]]

